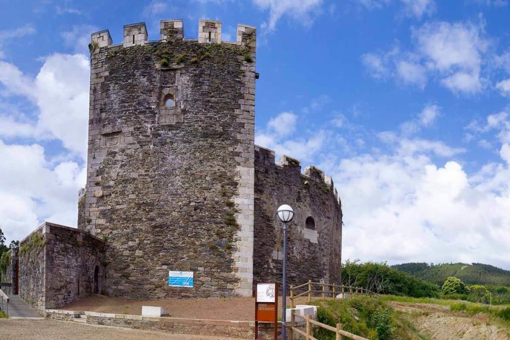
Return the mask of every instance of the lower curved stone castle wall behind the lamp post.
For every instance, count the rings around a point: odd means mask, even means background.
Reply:
[[[314,167],[301,173],[297,160],[255,147],[255,223],[253,280],[282,280],[282,223],[275,216],[281,204],[293,207],[288,224],[288,283],[309,279],[340,283],[342,209],[333,180]],[[315,228],[309,219],[313,218]]]

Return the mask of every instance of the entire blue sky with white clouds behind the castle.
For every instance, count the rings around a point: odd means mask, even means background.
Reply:
[[[18,1],[0,13],[0,226],[76,223],[90,33],[258,28],[256,142],[333,176],[343,257],[510,269],[507,0]],[[23,15],[19,15],[23,13]],[[281,126],[286,128],[282,129]]]

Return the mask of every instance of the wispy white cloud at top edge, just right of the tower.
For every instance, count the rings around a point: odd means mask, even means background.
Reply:
[[[290,15],[308,26],[313,21],[313,14],[322,5],[322,0],[252,0],[263,10],[269,10],[269,20],[261,25],[267,32],[274,31],[276,23],[284,15]]]

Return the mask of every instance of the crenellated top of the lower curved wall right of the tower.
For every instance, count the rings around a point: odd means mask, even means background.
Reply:
[[[305,167],[304,171],[301,173],[301,162],[299,162],[295,158],[291,158],[288,155],[284,154],[280,157],[278,163],[276,163],[274,150],[259,145],[255,145],[255,151],[258,152],[259,154],[260,164],[264,164],[265,166],[275,165],[279,167],[289,168],[292,169],[292,171],[299,173],[301,176],[313,180],[314,182],[325,184],[327,188],[331,192],[333,192],[335,200],[338,202],[338,204],[341,205],[340,198],[338,197],[338,191],[333,184],[333,178],[331,178],[331,176],[325,176],[323,170],[313,165],[309,165]]]

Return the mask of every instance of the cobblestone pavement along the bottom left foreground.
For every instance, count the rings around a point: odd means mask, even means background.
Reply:
[[[53,320],[0,319],[0,340],[242,340],[233,337],[169,334]]]

